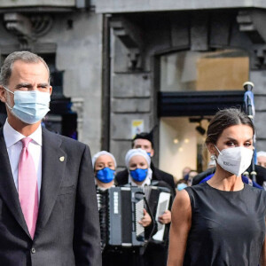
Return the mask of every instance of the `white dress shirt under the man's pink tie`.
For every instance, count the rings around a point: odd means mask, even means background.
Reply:
[[[9,156],[9,161],[12,168],[12,175],[14,178],[15,186],[18,190],[18,180],[19,180],[19,160],[20,153],[22,150],[22,142],[20,141],[23,136],[20,132],[12,128],[9,122],[6,120],[4,123],[4,141],[7,148],[7,153]],[[32,141],[28,144],[28,153],[31,154],[34,162],[37,175],[38,184],[38,200],[40,202],[40,192],[42,185],[42,127],[41,125],[35,130],[30,136]]]

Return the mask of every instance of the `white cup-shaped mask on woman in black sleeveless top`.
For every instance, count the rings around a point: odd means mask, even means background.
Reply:
[[[215,148],[219,153],[218,158],[216,158],[217,163],[221,168],[231,174],[240,176],[251,164],[253,156],[253,150],[251,149],[245,147],[233,147],[219,151],[216,146]]]

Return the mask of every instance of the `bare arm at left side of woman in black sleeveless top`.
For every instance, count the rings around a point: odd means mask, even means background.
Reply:
[[[192,207],[188,193],[176,193],[172,206],[168,266],[182,266],[188,233],[192,225]]]

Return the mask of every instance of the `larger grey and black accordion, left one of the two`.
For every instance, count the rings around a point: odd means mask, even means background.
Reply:
[[[143,189],[111,187],[98,190],[102,248],[107,246],[144,246],[145,229],[137,223],[145,207]]]

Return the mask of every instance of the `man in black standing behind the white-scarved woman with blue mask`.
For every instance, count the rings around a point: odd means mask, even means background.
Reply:
[[[132,148],[137,149],[141,148],[149,154],[150,157],[153,157],[153,131],[150,133],[140,133],[132,140]],[[158,181],[160,183],[165,183],[171,189],[172,198],[174,199],[176,195],[176,188],[174,183],[174,177],[164,171],[161,171],[158,168],[155,168],[153,162],[151,167],[153,170],[152,182]],[[129,172],[127,169],[118,172],[116,177],[116,183],[118,185],[129,184]],[[171,212],[167,210],[163,215],[159,217],[160,223],[166,224],[167,228],[169,223],[171,223]],[[163,243],[154,243],[151,241],[148,245],[148,248],[145,253],[147,261],[153,262],[153,266],[162,266],[167,263],[167,254],[168,254],[168,237]]]

